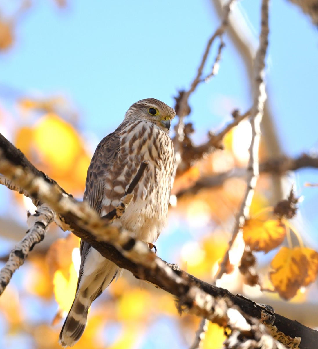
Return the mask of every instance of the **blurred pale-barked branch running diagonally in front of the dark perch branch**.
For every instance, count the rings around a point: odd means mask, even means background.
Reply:
[[[156,280],[155,284],[161,285],[179,298],[179,311],[186,310],[216,322],[220,326],[229,327],[233,334],[245,332],[245,335],[240,338],[235,337],[232,343],[235,341],[239,345],[250,340],[258,343],[263,336],[267,336],[272,341],[269,348],[282,348],[268,335],[264,326],[253,325],[250,320],[246,320],[246,317],[249,318],[248,315],[239,308],[233,307],[228,297],[214,297],[194,285],[182,271],[180,275],[174,273],[163,260],[149,250],[146,243],[132,237],[125,230],[105,224],[105,221],[96,211],[88,207],[86,202],[77,202],[65,193],[61,193],[61,188],[56,183],[47,183],[33,173],[10,163],[3,156],[0,157],[0,171],[17,186],[23,187],[34,199],[47,203],[62,216],[64,223],[69,224],[77,236],[90,243],[108,259],[116,262],[103,249],[107,246],[105,241],[115,246],[119,255],[128,262],[128,270],[133,271],[132,265],[134,265],[137,268],[135,275],[140,279],[146,279],[146,276],[151,275],[153,280]],[[118,266],[121,267],[121,264],[122,262],[118,263]],[[229,337],[231,336],[232,334]],[[232,346],[232,348],[235,347]]]

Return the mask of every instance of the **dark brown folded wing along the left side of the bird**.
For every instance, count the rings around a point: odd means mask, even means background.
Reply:
[[[119,149],[119,135],[117,133],[110,133],[98,144],[87,170],[83,200],[87,201],[90,207],[94,208],[99,214],[101,213],[102,201],[105,196],[105,178],[107,172],[111,170],[114,163],[117,163]],[[84,240],[80,241],[81,265],[77,285],[79,284],[80,276],[83,272],[86,254],[90,248],[90,244],[86,243]]]

